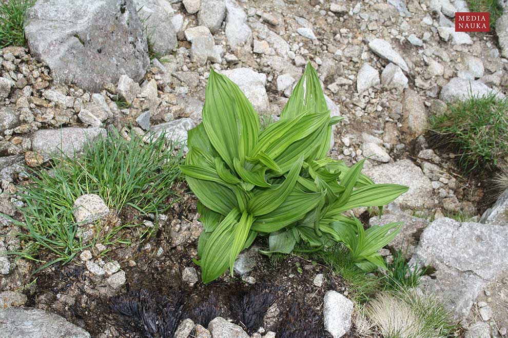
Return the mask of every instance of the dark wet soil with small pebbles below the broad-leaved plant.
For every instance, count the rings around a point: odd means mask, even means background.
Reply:
[[[183,198],[167,213],[171,220],[192,220],[196,214],[196,200]],[[132,210],[122,212],[120,218],[139,217]],[[259,255],[256,269],[247,273],[255,279],[253,285],[244,282],[239,276],[231,278],[225,273],[218,280],[190,287],[182,281],[182,270],[199,267],[192,262],[197,258],[197,239],[172,247],[168,244],[169,226],[162,226],[147,242],[119,246],[108,252],[104,260],[118,260],[126,272],[126,283],[116,292],[107,288],[106,278],[90,276],[79,259],[67,265],[55,265],[34,275],[36,283],[28,290],[28,306],[54,311],[70,322],[85,328],[96,336],[150,336],[138,319],[121,315],[112,309],[118,303],[118,296],[136,294],[140,290],[149,293],[154,299],[174,299],[181,297],[182,311],[176,316],[191,318],[203,326],[210,319],[222,316],[244,327],[249,334],[256,329],[246,327],[248,323],[262,323],[266,331],[275,331],[287,336],[305,333],[308,337],[329,337],[323,324],[323,297],[327,290],[345,292],[340,277],[327,267],[310,260],[288,255],[269,259]],[[254,245],[265,247],[266,238],[258,238]],[[151,250],[147,250],[147,246]],[[158,255],[158,248],[163,248]],[[130,266],[129,261],[137,264]],[[316,287],[313,280],[318,273],[325,275],[326,281]],[[269,293],[266,302],[268,310],[260,307],[257,294]],[[116,296],[116,298],[115,298]],[[249,301],[249,297],[251,301]],[[261,310],[260,310],[261,308]],[[266,314],[265,312],[269,312]],[[247,325],[249,325],[247,323]],[[289,328],[287,323],[290,323]],[[253,325],[253,324],[251,324]],[[299,326],[301,330],[299,331]],[[295,330],[296,329],[296,330]],[[293,331],[291,331],[293,330]],[[293,333],[291,333],[293,332]],[[295,333],[296,332],[296,333]],[[346,337],[358,336],[351,330]],[[157,335],[152,335],[157,336]],[[279,335],[278,335],[279,336]]]

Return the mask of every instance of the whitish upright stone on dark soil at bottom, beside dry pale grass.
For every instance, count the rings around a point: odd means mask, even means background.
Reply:
[[[353,302],[337,291],[326,292],[323,304],[325,329],[334,338],[342,337],[351,329]]]

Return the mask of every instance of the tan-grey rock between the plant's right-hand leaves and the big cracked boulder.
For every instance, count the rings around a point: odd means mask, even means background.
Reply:
[[[423,218],[414,217],[404,213],[383,214],[381,218],[375,216],[370,218],[369,225],[386,225],[393,222],[404,222],[400,233],[388,244],[389,247],[406,251],[407,257],[413,256],[415,248],[420,240],[422,231],[427,227],[428,221]]]

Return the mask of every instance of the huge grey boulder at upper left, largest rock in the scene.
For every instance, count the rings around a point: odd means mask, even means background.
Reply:
[[[149,67],[132,0],[39,0],[26,23],[31,54],[49,66],[57,82],[98,92],[122,74],[140,81]]]

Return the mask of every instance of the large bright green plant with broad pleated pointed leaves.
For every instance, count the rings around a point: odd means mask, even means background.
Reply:
[[[310,64],[280,120],[262,132],[242,91],[213,69],[202,117],[188,133],[189,153],[181,170],[200,201],[204,231],[196,262],[205,283],[228,266],[232,274],[239,252],[258,234],[270,235],[266,254],[289,253],[301,242],[310,247],[342,242],[342,230],[356,224],[342,213],[387,204],[407,191],[401,185],[374,184],[360,173],[363,161],[349,168],[326,157],[331,126],[341,118],[330,117]],[[364,258],[370,257],[375,256]]]

